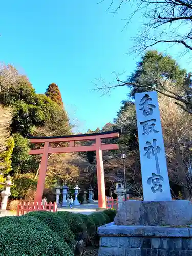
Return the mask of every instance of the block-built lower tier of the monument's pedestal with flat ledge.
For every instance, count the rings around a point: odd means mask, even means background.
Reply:
[[[117,226],[98,228],[98,256],[191,256],[191,227]]]

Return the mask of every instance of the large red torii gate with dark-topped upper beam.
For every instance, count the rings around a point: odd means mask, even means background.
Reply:
[[[117,138],[121,134],[121,129],[115,131],[108,131],[103,133],[94,134],[80,134],[69,136],[56,136],[56,137],[30,137],[31,143],[44,143],[43,148],[30,150],[29,154],[42,154],[39,178],[37,183],[37,190],[35,194],[35,202],[42,201],[42,194],[44,192],[48,154],[49,153],[65,153],[65,152],[82,152],[82,151],[96,151],[97,159],[97,182],[98,182],[98,199],[99,208],[106,208],[105,201],[105,183],[104,183],[104,167],[102,159],[102,150],[118,150],[118,144],[105,144],[101,143],[101,139]],[[76,141],[95,141],[90,146],[76,146]],[[69,142],[69,147],[50,147],[49,143]]]

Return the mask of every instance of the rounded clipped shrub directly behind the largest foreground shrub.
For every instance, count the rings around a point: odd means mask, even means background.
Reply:
[[[74,243],[73,233],[68,226],[68,224],[61,219],[58,215],[49,211],[32,211],[29,214],[24,215],[24,217],[34,217],[42,222],[46,223],[50,229],[59,234],[67,243],[70,243],[72,246]]]

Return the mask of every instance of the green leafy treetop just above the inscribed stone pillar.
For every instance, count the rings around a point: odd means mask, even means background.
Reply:
[[[151,91],[162,89],[162,79],[169,80],[175,86],[181,87],[186,76],[186,70],[181,69],[172,57],[157,51],[148,51],[138,62],[135,72],[127,81],[140,84],[140,87],[132,87],[130,95],[134,97],[135,93],[149,89]]]

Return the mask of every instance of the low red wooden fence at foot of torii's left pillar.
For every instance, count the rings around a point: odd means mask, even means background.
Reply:
[[[57,203],[50,202],[45,205],[42,202],[39,204],[38,202],[21,202],[17,207],[17,216],[27,214],[30,211],[57,211]]]

